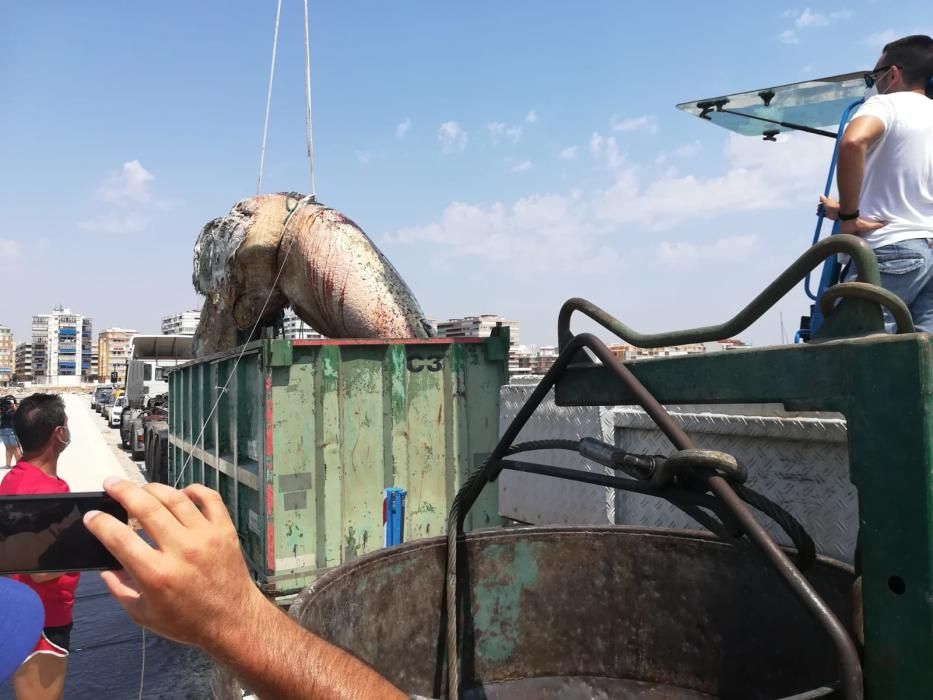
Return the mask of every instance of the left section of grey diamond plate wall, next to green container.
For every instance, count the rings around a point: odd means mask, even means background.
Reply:
[[[515,418],[534,388],[532,383],[520,383],[500,389],[500,434]],[[557,406],[552,391],[519,433],[516,442],[548,438],[578,440],[582,437],[600,437],[612,442],[614,420],[611,408]],[[611,473],[600,464],[564,450],[529,452],[525,458],[555,467]],[[615,520],[615,491],[604,486],[507,470],[500,474],[498,484],[499,513],[506,518],[534,525],[607,525]]]

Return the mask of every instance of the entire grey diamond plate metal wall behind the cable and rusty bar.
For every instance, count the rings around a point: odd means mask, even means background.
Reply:
[[[501,389],[500,433],[515,417],[534,385]],[[855,487],[849,481],[846,424],[836,414],[763,411],[772,415],[717,413],[691,407],[672,416],[699,447],[721,450],[742,461],[748,485],[790,511],[816,542],[820,554],[851,563],[858,532]],[[781,415],[773,415],[781,413]],[[673,448],[638,408],[560,407],[549,395],[519,436],[521,440],[601,437],[626,451],[669,454]],[[533,453],[529,458],[560,467],[608,473],[570,452]],[[648,527],[696,528],[667,501],[598,486],[505,471],[499,477],[503,516],[536,525],[618,523]],[[782,544],[784,533],[765,516],[768,531]]]

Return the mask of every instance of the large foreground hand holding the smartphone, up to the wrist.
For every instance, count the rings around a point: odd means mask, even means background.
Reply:
[[[108,479],[104,489],[158,547],[106,513],[84,516],[87,529],[124,567],[102,578],[134,622],[211,653],[268,605],[216,491],[200,484],[184,491],[164,484],[140,488],[121,479]]]

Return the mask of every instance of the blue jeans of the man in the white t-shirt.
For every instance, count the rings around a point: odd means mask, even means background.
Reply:
[[[913,238],[875,248],[881,286],[904,300],[914,327],[933,333],[933,238]],[[894,319],[884,312],[885,326],[895,332]]]

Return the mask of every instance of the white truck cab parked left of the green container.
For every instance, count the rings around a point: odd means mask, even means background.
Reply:
[[[137,335],[130,341],[120,440],[133,459],[142,459],[146,452],[143,413],[151,399],[168,391],[167,371],[189,361],[193,357],[192,348],[193,339],[189,335]]]

